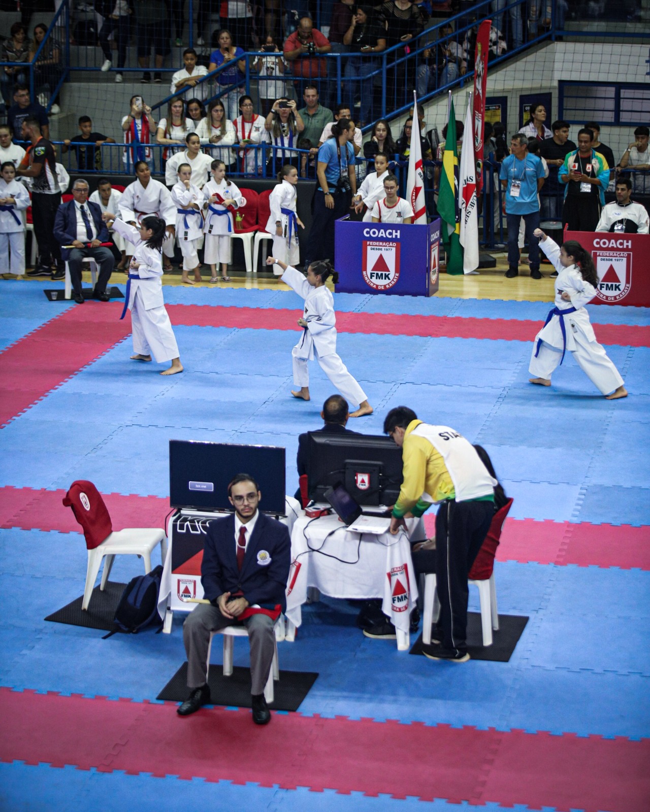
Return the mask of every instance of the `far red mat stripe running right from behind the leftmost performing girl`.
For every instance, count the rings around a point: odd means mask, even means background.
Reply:
[[[172,324],[253,330],[296,330],[296,319],[301,315],[297,310],[206,307],[201,304],[167,304],[167,312]],[[504,318],[336,313],[336,328],[341,333],[532,341],[541,326],[542,322]],[[626,347],[650,346],[650,327],[646,326],[599,324],[596,325],[596,335],[604,344],[622,344]]]

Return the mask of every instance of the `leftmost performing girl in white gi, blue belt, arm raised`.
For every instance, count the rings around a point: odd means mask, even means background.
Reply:
[[[171,329],[171,322],[163,300],[163,242],[165,221],[154,215],[144,217],[140,227],[116,220],[115,214],[102,214],[105,222],[130,242],[135,250],[128,268],[127,308],[131,310],[133,331],[133,361],[151,361],[153,354],[157,364],[171,361],[171,367],[161,375],[175,375],[183,371],[178,344]]]

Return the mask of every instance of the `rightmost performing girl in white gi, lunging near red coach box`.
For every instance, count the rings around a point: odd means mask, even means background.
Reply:
[[[596,296],[598,284],[591,256],[575,240],[569,240],[559,248],[540,228],[533,233],[558,275],[554,280],[555,307],[535,336],[528,368],[535,377],[529,378],[530,382],[550,387],[553,369],[564,360],[565,350],[569,350],[583,373],[607,400],[626,397],[623,379],[596,341],[589,314],[584,308]]]

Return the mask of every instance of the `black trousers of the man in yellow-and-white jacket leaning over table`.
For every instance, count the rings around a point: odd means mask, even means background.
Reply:
[[[436,590],[445,649],[467,650],[467,576],[494,516],[494,502],[448,499],[436,514]]]

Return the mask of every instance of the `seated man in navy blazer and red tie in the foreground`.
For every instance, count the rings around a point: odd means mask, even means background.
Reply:
[[[237,474],[228,486],[228,499],[235,514],[210,522],[203,549],[201,582],[210,603],[199,603],[183,627],[190,694],[177,712],[187,716],[210,702],[210,632],[244,624],[250,643],[253,721],[267,724],[271,711],[264,686],[275,651],[273,627],[286,608],[291,540],[285,525],[258,511],[261,494],[249,474]]]

